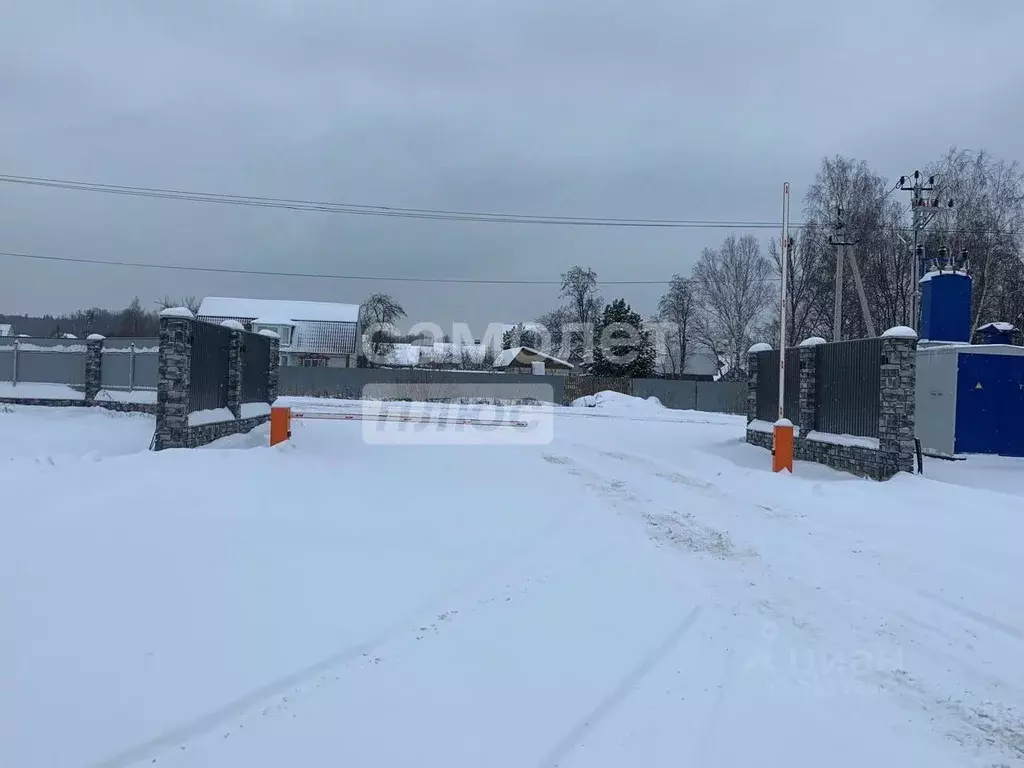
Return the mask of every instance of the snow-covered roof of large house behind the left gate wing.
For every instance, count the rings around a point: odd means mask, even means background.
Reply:
[[[282,344],[283,351],[355,354],[358,350],[358,304],[208,296],[200,305],[199,316],[239,321],[246,330],[252,330],[254,324],[291,326],[292,337],[288,344]]]

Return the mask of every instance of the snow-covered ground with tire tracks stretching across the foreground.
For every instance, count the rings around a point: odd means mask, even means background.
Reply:
[[[1024,462],[773,475],[742,418],[553,418],[153,454],[0,407],[0,766],[1024,766]]]

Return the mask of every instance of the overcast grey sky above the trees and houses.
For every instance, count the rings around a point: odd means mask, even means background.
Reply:
[[[769,219],[825,155],[891,178],[1024,156],[1024,2],[6,0],[0,173],[389,206]],[[799,218],[799,214],[795,215]],[[738,233],[738,232],[737,232]],[[767,238],[772,232],[763,231]],[[0,250],[381,276],[688,272],[721,229],[512,226],[0,184]],[[0,311],[138,295],[530,319],[554,286],[211,275],[0,257]],[[607,287],[644,313],[659,287]]]

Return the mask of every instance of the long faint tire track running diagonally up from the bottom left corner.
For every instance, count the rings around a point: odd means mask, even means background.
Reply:
[[[256,706],[271,698],[280,698],[287,692],[299,694],[303,692],[303,685],[309,684],[317,675],[323,675],[328,671],[344,667],[356,659],[369,656],[379,646],[387,643],[403,632],[416,630],[422,627],[422,621],[427,614],[437,616],[438,606],[450,602],[453,598],[462,595],[469,590],[478,587],[482,582],[487,581],[495,574],[505,570],[515,563],[518,563],[525,556],[538,549],[551,536],[569,525],[569,523],[580,516],[579,511],[567,514],[550,525],[542,528],[536,536],[527,538],[527,541],[511,550],[507,557],[501,558],[497,563],[480,570],[475,575],[459,583],[454,588],[441,592],[437,596],[425,600],[416,609],[410,611],[401,620],[392,623],[381,632],[373,635],[362,642],[349,645],[336,653],[315,662],[307,667],[296,670],[288,675],[261,685],[248,693],[239,696],[222,707],[208,712],[204,715],[188,720],[181,725],[163,731],[144,741],[133,744],[121,752],[103,760],[90,764],[90,768],[130,768],[130,766],[153,758],[155,755],[173,748],[181,746],[201,736],[205,736],[224,723],[237,719]],[[285,696],[287,699],[287,696]]]

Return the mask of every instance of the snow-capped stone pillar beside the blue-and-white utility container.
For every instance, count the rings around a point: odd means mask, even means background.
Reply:
[[[879,452],[882,478],[897,472],[913,472],[914,379],[918,335],[905,326],[882,334],[882,365],[879,375]]]

